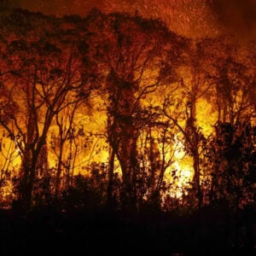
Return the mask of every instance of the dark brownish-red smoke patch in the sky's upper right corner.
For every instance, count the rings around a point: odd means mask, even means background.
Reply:
[[[213,0],[209,7],[218,17],[223,32],[232,33],[241,40],[256,38],[255,0]]]

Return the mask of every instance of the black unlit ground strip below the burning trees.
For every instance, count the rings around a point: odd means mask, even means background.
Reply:
[[[256,255],[251,220],[223,212],[3,210],[0,255]]]

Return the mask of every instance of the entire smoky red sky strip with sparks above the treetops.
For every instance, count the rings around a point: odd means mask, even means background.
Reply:
[[[232,32],[256,38],[256,0],[10,0],[17,7],[50,15],[86,15],[93,7],[160,17],[184,35]]]

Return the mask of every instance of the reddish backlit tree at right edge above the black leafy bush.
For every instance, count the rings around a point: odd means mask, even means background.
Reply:
[[[220,123],[250,121],[255,112],[252,45],[246,48],[228,36],[204,40],[201,50],[211,60],[209,77],[213,85],[208,100]]]

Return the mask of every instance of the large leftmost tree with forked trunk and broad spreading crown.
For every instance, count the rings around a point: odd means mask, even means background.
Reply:
[[[2,78],[0,124],[20,150],[20,203],[26,208],[32,203],[38,159],[55,115],[84,99],[87,90],[89,77],[78,46],[54,37],[20,36],[2,52],[9,73]]]

